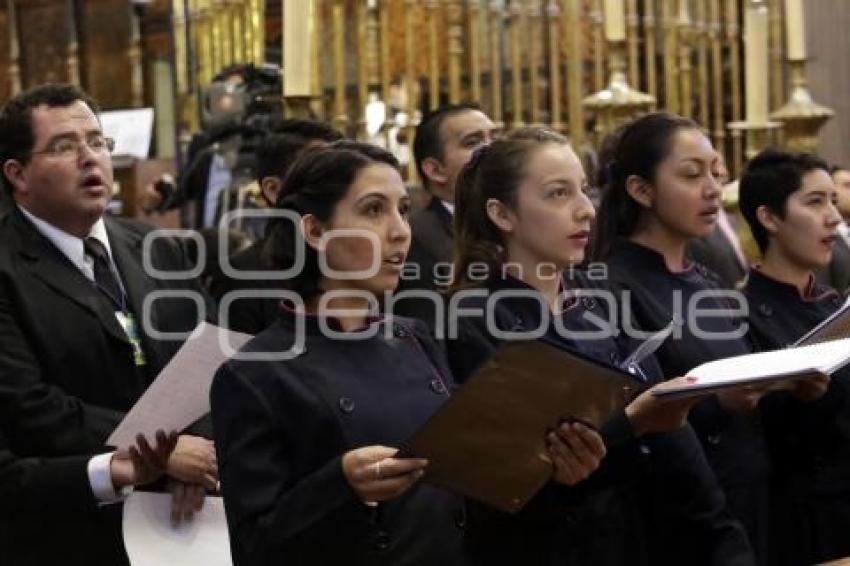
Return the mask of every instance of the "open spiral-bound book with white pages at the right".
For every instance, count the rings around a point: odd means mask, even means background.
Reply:
[[[832,373],[850,363],[850,338],[715,360],[688,372],[690,383],[668,381],[657,397],[692,397],[742,385],[774,384]]]

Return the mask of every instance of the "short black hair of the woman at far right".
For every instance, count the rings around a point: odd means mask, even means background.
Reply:
[[[829,165],[811,153],[779,149],[766,149],[747,164],[739,182],[738,204],[762,254],[767,250],[769,239],[756,210],[766,206],[784,218],[788,197],[803,187],[803,176],[816,169],[829,172]]]

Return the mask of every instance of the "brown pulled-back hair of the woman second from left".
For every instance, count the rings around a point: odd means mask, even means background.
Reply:
[[[505,236],[487,215],[487,201],[516,209],[526,163],[532,152],[550,143],[567,145],[567,139],[547,128],[520,128],[478,148],[464,166],[455,189],[452,292],[479,283],[469,278],[473,263],[486,264],[490,276],[501,272],[507,261]]]

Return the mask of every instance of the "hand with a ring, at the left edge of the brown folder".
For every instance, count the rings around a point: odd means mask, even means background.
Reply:
[[[425,473],[427,460],[393,458],[397,452],[387,446],[365,446],[343,455],[342,472],[362,501],[395,499]]]

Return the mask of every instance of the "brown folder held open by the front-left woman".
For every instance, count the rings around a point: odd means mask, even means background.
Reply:
[[[556,346],[511,343],[408,441],[425,480],[515,513],[552,475],[546,430],[562,418],[601,427],[643,388],[626,372]]]

